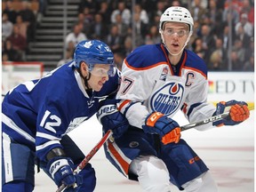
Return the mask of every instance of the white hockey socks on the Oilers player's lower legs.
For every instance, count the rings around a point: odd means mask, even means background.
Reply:
[[[169,172],[164,162],[156,156],[139,156],[132,160],[130,172],[138,175],[140,187],[147,192],[171,192]],[[186,192],[217,192],[210,172],[185,183]]]

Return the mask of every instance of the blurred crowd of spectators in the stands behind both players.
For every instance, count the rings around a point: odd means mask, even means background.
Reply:
[[[66,36],[66,55],[58,65],[72,60],[74,47],[79,41],[100,39],[111,47],[116,65],[121,68],[122,60],[134,45],[161,43],[158,32],[160,16],[172,5],[185,6],[191,12],[195,25],[188,49],[202,57],[209,70],[228,70],[228,63],[232,61],[232,70],[254,71],[253,0],[136,0],[133,10],[132,0],[81,0],[74,28]],[[20,12],[25,10],[28,12],[25,7]],[[24,41],[21,36],[25,39],[26,34],[28,36],[30,30],[26,32],[26,27],[32,28],[33,36],[35,18],[27,13],[19,15],[20,19],[14,20],[10,12],[3,12],[4,50],[9,46],[11,52],[17,51],[19,42],[19,49],[24,51],[28,42],[33,40],[27,38]],[[25,23],[26,27],[21,27],[20,23]],[[16,41],[14,36],[20,40]],[[228,52],[230,44],[231,52]],[[13,55],[10,60],[11,57]]]

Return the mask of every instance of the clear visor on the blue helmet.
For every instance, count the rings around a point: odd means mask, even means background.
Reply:
[[[114,76],[114,65],[95,64],[90,72],[93,76]]]

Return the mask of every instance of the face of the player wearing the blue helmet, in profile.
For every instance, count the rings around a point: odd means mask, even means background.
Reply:
[[[95,64],[91,71],[91,77],[88,81],[92,90],[100,92],[103,84],[108,81],[109,65]]]

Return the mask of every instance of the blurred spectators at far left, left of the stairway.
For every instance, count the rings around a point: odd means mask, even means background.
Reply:
[[[32,9],[31,2],[28,1],[20,1],[15,9],[12,1],[3,3],[2,60],[24,61],[28,52],[28,43],[35,38],[37,10]]]

